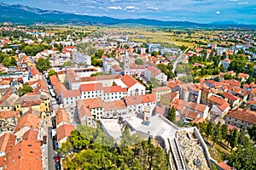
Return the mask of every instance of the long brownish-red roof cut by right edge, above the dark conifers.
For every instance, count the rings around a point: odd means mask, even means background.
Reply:
[[[238,108],[237,110],[230,110],[227,116],[233,117],[235,119],[239,119],[244,122],[250,122],[250,123],[256,124],[255,111],[249,111],[246,109],[242,110],[241,108]]]

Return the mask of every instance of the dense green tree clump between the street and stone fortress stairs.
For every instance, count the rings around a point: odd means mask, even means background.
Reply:
[[[73,149],[78,150],[73,153]],[[116,144],[100,128],[79,125],[70,140],[58,150],[64,157],[64,169],[158,169],[169,168],[164,151],[152,144],[151,139],[141,140],[124,127],[121,143]]]

